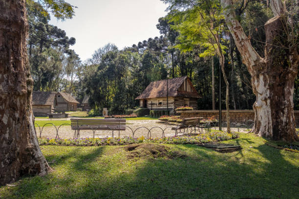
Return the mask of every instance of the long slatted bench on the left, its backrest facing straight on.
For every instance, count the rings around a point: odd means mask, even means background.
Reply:
[[[112,131],[112,138],[114,137],[114,131],[118,131],[118,137],[120,137],[120,131],[126,130],[126,119],[76,119],[71,118],[71,129],[75,130],[74,138],[80,137],[80,130],[92,130],[93,138],[96,130],[110,130]]]

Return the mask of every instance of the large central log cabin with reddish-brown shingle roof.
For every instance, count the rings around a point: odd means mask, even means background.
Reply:
[[[168,109],[179,106],[192,106],[197,109],[197,100],[201,98],[187,77],[168,80]],[[167,109],[167,80],[152,81],[135,100],[140,100],[140,107],[150,110]]]

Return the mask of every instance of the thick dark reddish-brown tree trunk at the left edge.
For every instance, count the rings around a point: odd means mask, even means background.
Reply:
[[[0,0],[0,185],[50,169],[31,110],[25,0]]]

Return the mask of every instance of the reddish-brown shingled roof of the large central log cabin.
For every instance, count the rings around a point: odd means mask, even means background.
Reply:
[[[193,85],[191,86],[193,90],[192,92],[179,91],[180,86],[184,83],[186,79],[192,85],[191,81],[187,76],[169,79],[168,97],[200,98]],[[167,80],[159,80],[150,82],[148,87],[135,100],[164,97],[167,97]]]

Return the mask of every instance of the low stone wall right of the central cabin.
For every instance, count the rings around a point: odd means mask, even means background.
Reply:
[[[180,114],[180,118],[195,118],[203,117],[208,118],[215,116],[216,119],[219,118],[219,110],[192,110],[192,111],[177,111]],[[226,110],[222,110],[222,121],[226,121]],[[294,111],[296,123],[299,124],[299,111]],[[243,122],[248,119],[255,119],[254,110],[230,110],[230,121],[231,122]]]

